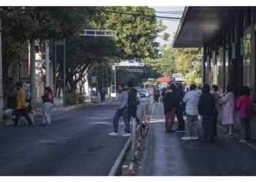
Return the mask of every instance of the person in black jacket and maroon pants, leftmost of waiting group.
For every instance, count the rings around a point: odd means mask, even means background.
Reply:
[[[177,100],[174,93],[175,88],[175,84],[172,84],[170,86],[170,90],[165,92],[165,132],[175,132],[173,130],[173,123],[177,106]]]

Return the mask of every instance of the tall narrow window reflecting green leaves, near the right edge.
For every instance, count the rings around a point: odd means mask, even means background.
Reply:
[[[244,35],[243,57],[243,84],[251,87],[251,33]]]

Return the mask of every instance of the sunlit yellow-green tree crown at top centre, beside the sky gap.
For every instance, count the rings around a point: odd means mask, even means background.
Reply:
[[[157,55],[157,33],[165,30],[157,23],[154,9],[148,7],[103,7],[104,11],[126,12],[152,17],[102,12],[99,21],[105,28],[117,31],[116,41],[120,58],[146,58]]]

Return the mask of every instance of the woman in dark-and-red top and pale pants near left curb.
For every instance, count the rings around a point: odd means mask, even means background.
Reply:
[[[42,125],[51,125],[50,109],[53,108],[53,91],[50,87],[45,88],[45,95],[42,95]]]

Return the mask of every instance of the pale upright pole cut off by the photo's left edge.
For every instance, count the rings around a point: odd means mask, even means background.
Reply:
[[[0,18],[0,122],[3,121],[3,59],[1,53],[1,18]]]

